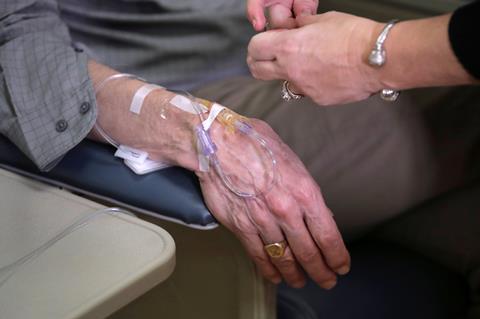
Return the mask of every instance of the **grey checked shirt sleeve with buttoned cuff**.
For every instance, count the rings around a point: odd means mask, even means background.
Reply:
[[[95,123],[87,61],[72,46],[56,0],[0,0],[0,133],[41,170]]]

